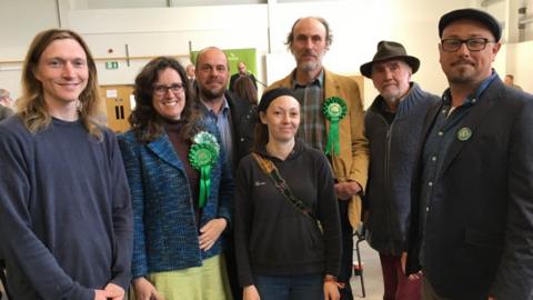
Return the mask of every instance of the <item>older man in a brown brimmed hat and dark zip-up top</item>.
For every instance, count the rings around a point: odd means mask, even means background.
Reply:
[[[360,68],[380,92],[364,117],[371,159],[363,202],[368,241],[380,253],[384,300],[420,299],[420,278],[405,277],[411,178],[424,117],[439,97],[411,81],[419,67],[401,43],[381,41]]]

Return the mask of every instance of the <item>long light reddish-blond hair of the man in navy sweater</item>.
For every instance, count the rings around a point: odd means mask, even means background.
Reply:
[[[89,47],[76,32],[67,29],[49,29],[38,33],[31,42],[22,67],[22,96],[17,101],[18,113],[26,128],[32,133],[47,128],[52,117],[44,102],[42,83],[36,78],[39,60],[44,50],[56,40],[72,39],[77,41],[87,56],[89,78],[86,89],[79,97],[79,118],[90,134],[102,140],[102,124],[99,121],[99,102],[97,66]]]

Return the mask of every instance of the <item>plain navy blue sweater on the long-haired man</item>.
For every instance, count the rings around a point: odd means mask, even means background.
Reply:
[[[53,119],[31,134],[0,123],[0,243],[13,299],[94,299],[127,288],[132,251],[128,181],[114,134]]]

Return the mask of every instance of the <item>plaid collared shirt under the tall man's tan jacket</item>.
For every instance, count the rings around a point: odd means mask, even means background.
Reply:
[[[328,140],[325,120],[322,114],[324,102],[324,70],[320,71],[316,79],[308,84],[296,82],[296,72],[293,74],[292,89],[301,106],[300,129],[298,138],[311,147],[323,151]]]

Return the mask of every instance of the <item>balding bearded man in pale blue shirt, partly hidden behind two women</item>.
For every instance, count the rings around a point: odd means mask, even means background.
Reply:
[[[239,161],[250,153],[253,144],[253,130],[257,108],[248,99],[237,99],[227,90],[229,79],[228,57],[215,47],[200,51],[197,57],[197,93],[204,118],[210,118],[219,128],[221,147],[227,154],[232,171]],[[228,228],[232,228],[229,226]],[[227,232],[225,258],[231,291],[234,299],[242,298],[237,279],[233,234]]]

